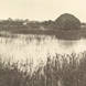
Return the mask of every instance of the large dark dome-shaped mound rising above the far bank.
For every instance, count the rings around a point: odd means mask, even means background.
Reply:
[[[79,30],[80,21],[73,14],[64,13],[55,20],[55,25],[60,30]]]

